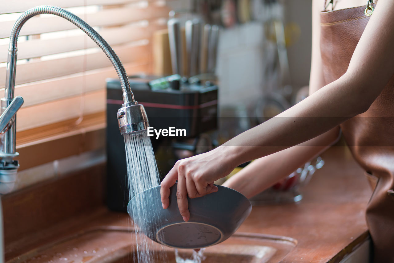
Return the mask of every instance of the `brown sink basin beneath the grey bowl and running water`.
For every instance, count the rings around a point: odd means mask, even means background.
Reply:
[[[93,228],[35,248],[7,263],[133,263],[136,245],[132,234],[133,229],[124,227]],[[277,263],[296,244],[297,241],[289,237],[235,233],[224,242],[207,247],[203,263]],[[162,249],[162,245],[154,244],[153,250]],[[164,247],[167,258],[160,263],[175,263],[174,251]],[[192,250],[178,251],[183,258],[192,253]]]

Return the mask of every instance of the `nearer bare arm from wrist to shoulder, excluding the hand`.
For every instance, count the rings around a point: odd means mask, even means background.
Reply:
[[[220,150],[228,162],[240,164],[292,147],[366,111],[394,73],[393,11],[394,1],[379,0],[346,73],[277,117],[225,143]]]

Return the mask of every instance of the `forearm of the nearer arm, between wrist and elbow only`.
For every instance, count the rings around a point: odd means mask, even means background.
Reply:
[[[236,166],[308,141],[365,110],[356,90],[357,83],[339,79],[217,150]]]

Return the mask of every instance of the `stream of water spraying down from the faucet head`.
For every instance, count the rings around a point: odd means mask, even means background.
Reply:
[[[131,134],[123,135],[126,147],[127,160],[127,176],[128,187],[130,192],[130,199],[136,194],[147,190],[148,188],[158,186],[160,184],[159,172],[157,169],[156,160],[152,143],[147,136],[147,131],[139,131]],[[139,198],[137,196],[136,198]],[[137,200],[141,207],[134,205],[131,207],[131,214],[138,222],[145,222],[147,212],[142,208],[144,202],[157,202],[153,197],[144,200]],[[151,213],[152,211],[150,211]],[[158,217],[159,215],[156,214]],[[144,220],[142,220],[144,219]],[[137,226],[134,225],[136,228]],[[146,232],[147,225],[139,225],[139,230]],[[133,254],[134,262],[139,263],[156,263],[167,262],[164,253],[164,246],[160,246],[151,239],[144,237],[139,233],[135,233],[134,241],[136,244],[136,253]]]

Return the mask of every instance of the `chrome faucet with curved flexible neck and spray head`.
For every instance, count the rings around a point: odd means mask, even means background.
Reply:
[[[130,88],[130,83],[123,67],[123,64],[119,60],[110,45],[105,41],[100,34],[89,26],[85,21],[80,19],[73,13],[56,6],[37,6],[35,8],[28,9],[25,11],[19,19],[15,22],[10,36],[9,51],[7,58],[7,76],[6,76],[6,88],[5,95],[1,101],[1,112],[0,117],[0,130],[2,125],[6,129],[0,135],[0,182],[2,175],[14,176],[19,168],[17,160],[13,160],[19,154],[16,152],[15,136],[16,136],[16,111],[20,108],[23,103],[21,97],[14,99],[15,90],[15,71],[17,66],[17,40],[20,29],[26,23],[26,21],[35,15],[41,14],[52,14],[58,15],[67,19],[71,23],[75,24],[78,28],[84,31],[99,47],[104,51],[107,57],[110,59],[113,67],[115,68],[119,80],[123,89],[123,101],[122,108],[119,109],[117,118],[119,119],[119,129],[121,134],[131,133],[140,130],[146,130],[148,118],[145,113],[145,109],[142,105],[139,105],[137,101],[134,101],[134,96]],[[18,107],[19,106],[19,107]],[[0,183],[1,184],[1,183]]]

